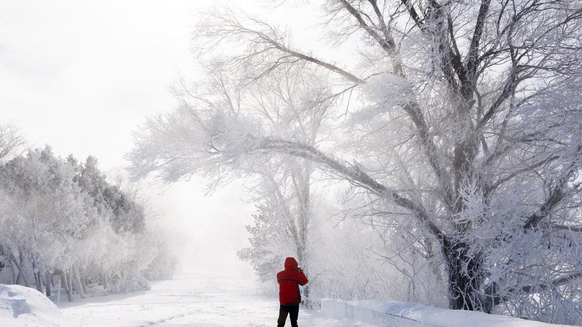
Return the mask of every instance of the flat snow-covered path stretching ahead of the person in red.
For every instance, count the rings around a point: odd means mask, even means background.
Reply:
[[[73,326],[276,326],[276,298],[257,294],[253,282],[184,274],[152,283],[148,292],[109,295],[61,303]],[[286,326],[290,326],[289,321]],[[375,327],[322,318],[301,310],[299,326]]]

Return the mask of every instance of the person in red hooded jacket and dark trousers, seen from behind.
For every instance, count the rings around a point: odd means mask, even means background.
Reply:
[[[297,265],[295,258],[285,259],[285,270],[277,273],[279,283],[279,319],[277,327],[285,326],[287,315],[291,319],[291,326],[297,327],[297,316],[299,315],[299,304],[301,303],[301,293],[299,285],[306,285],[309,280]]]

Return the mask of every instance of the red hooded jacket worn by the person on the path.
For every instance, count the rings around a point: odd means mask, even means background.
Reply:
[[[297,261],[294,258],[285,259],[285,270],[277,273],[279,282],[279,303],[281,305],[301,303],[299,285],[306,285],[309,280],[302,271],[296,271]]]

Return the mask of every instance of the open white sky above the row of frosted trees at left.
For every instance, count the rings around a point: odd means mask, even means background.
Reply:
[[[92,4],[93,3],[93,4]],[[124,165],[130,131],[191,69],[196,1],[3,1],[0,108],[31,142]]]

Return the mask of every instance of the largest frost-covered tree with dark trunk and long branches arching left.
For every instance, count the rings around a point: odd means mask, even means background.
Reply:
[[[432,262],[449,308],[582,323],[581,3],[334,0],[322,9],[322,34],[354,44],[359,65],[305,51],[267,19],[204,16],[194,48],[240,49],[213,66],[240,84],[229,100],[193,93],[150,120],[131,155],[137,175],[223,179],[265,158],[303,158],[367,192],[365,214],[385,228],[388,250]],[[230,105],[296,65],[336,77],[310,101],[338,104],[342,137],[309,144],[257,120],[260,106]]]

